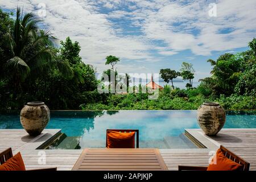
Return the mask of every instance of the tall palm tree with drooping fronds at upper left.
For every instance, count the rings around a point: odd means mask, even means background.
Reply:
[[[49,30],[38,27],[40,20],[32,13],[20,13],[17,8],[13,30],[6,35],[7,47],[11,56],[6,60],[6,72],[20,86],[28,75],[42,73],[51,61],[54,38]]]

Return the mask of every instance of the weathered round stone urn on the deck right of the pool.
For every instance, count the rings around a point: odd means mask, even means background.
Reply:
[[[197,109],[197,121],[206,135],[216,135],[225,124],[226,113],[217,102],[204,102]]]

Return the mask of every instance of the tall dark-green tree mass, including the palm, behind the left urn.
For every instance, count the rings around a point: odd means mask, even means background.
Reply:
[[[39,22],[17,9],[14,26],[6,29],[0,46],[10,54],[4,52],[1,59],[7,71],[0,79],[1,109],[20,109],[30,101],[44,101],[50,109],[79,109],[84,102],[105,101],[96,92],[96,71],[79,56],[79,43],[67,38],[60,48],[53,47],[55,38]]]

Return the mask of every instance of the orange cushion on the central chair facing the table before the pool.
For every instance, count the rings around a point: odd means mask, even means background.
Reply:
[[[108,148],[135,148],[135,132],[108,131],[107,142]]]

